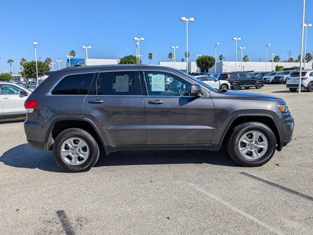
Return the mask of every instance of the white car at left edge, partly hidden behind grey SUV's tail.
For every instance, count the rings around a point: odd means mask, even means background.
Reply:
[[[0,82],[0,120],[26,116],[24,102],[31,91],[10,82]]]

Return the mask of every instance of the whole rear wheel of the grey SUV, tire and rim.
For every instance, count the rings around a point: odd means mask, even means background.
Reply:
[[[87,131],[71,128],[55,139],[53,157],[67,172],[88,171],[99,159],[99,147]]]

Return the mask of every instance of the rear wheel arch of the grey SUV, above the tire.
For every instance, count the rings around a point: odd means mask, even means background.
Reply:
[[[46,133],[45,144],[46,150],[51,150],[55,138],[64,130],[69,128],[80,128],[92,135],[92,137],[97,141],[99,147],[104,147],[107,152],[107,146],[103,140],[98,128],[95,124],[88,118],[56,118],[54,119]]]

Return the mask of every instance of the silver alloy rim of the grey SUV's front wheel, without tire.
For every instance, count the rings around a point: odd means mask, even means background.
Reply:
[[[244,158],[257,160],[268,150],[268,139],[261,132],[248,131],[240,137],[238,149]]]

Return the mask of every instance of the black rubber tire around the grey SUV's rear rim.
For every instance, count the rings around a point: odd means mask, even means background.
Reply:
[[[71,165],[65,163],[62,160],[62,156],[60,154],[61,147],[63,142],[69,138],[80,138],[87,143],[90,151],[86,162],[79,165]],[[67,172],[88,171],[99,159],[99,146],[94,138],[87,131],[78,128],[67,129],[61,132],[54,141],[53,158],[54,161]]]

